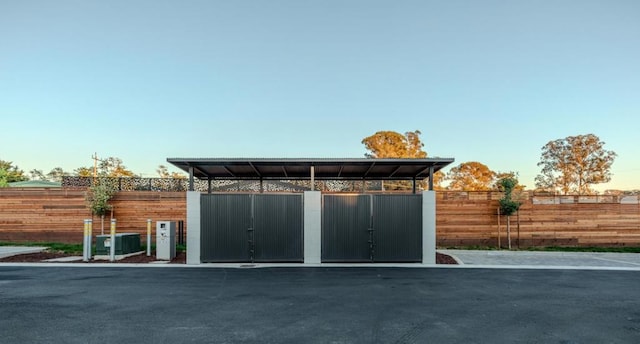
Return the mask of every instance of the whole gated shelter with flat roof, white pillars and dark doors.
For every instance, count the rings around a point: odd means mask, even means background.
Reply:
[[[433,175],[451,158],[169,158],[189,173],[187,264],[208,262],[435,263]],[[194,190],[196,179],[207,192]],[[417,193],[416,183],[428,180]],[[251,193],[212,192],[212,182],[258,181]],[[265,181],[310,181],[302,193],[264,193]],[[357,193],[314,190],[315,181],[362,181]],[[366,181],[406,180],[411,194],[366,190]]]

